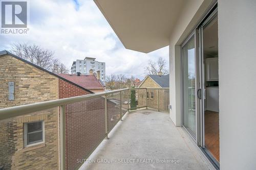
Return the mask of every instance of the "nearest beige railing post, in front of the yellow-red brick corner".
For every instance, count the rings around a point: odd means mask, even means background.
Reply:
[[[66,169],[66,107],[60,106],[59,114],[60,131],[60,170]]]

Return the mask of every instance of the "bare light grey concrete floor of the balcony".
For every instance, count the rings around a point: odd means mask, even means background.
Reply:
[[[109,137],[89,160],[112,162],[87,162],[80,169],[214,169],[168,113],[148,109],[127,113]],[[157,163],[160,159],[170,162]]]

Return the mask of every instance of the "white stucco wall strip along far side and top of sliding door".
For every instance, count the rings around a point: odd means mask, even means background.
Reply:
[[[188,1],[177,19],[176,27],[170,35],[169,70],[170,70],[170,118],[176,126],[181,126],[181,59],[180,45],[194,30],[213,0]]]

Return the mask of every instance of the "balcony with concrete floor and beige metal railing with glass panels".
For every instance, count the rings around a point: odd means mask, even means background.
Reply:
[[[168,88],[127,88],[0,109],[1,161],[6,169],[209,169],[169,119],[168,96]],[[37,120],[43,138],[27,147],[24,122]]]

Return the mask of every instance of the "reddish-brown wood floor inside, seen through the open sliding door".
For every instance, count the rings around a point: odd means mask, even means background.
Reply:
[[[205,147],[220,161],[219,113],[206,110],[204,112]]]

